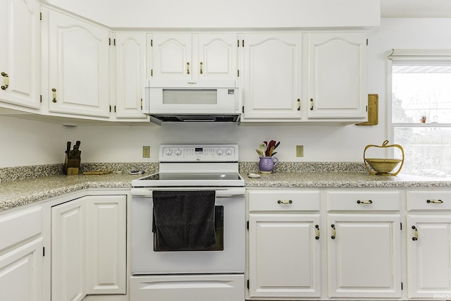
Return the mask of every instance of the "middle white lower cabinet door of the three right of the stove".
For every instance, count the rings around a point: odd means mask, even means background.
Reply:
[[[328,214],[328,296],[401,297],[399,214]]]

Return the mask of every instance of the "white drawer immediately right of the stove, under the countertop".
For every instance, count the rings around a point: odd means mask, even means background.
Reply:
[[[319,191],[251,190],[247,192],[252,211],[319,211]]]

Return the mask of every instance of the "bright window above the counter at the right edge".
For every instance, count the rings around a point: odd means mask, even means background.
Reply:
[[[451,51],[393,51],[389,59],[402,173],[451,178]]]

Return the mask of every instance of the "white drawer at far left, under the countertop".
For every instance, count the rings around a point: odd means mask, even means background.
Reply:
[[[42,207],[0,215],[0,250],[42,232]]]

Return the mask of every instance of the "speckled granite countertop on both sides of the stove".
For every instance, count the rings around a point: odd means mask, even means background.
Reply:
[[[105,166],[89,167],[100,170],[99,167]],[[131,170],[130,166],[125,167]],[[154,164],[140,167],[147,171],[146,175],[158,170]],[[58,168],[61,166],[54,168],[56,172]],[[127,170],[126,168],[122,170]],[[261,178],[249,178],[247,171],[258,173],[256,168],[258,166],[254,162],[240,164],[240,173],[245,178],[246,188],[451,188],[450,179],[402,174],[373,176],[362,171],[362,166],[352,164],[280,164],[275,173],[262,174]],[[42,169],[39,168],[40,171]],[[50,174],[10,180],[0,183],[0,211],[87,188],[127,189],[131,188],[132,180],[142,176],[144,175],[130,175],[127,172],[76,176]]]

